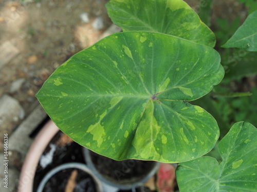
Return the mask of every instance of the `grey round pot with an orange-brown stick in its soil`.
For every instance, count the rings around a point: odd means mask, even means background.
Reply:
[[[102,183],[82,163],[66,163],[52,169],[41,181],[36,192],[44,191],[102,192]]]

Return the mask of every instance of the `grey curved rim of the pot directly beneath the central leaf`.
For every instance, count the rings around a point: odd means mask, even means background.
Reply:
[[[160,166],[160,162],[153,161],[153,162],[155,162],[155,164],[153,165],[152,170],[150,170],[150,172],[148,174],[146,174],[142,179],[140,179],[139,181],[136,181],[136,182],[132,182],[131,184],[119,184],[119,183],[113,182],[111,180],[108,180],[104,176],[102,176],[102,174],[95,167],[95,165],[91,159],[91,156],[90,156],[90,150],[88,148],[82,146],[82,154],[84,156],[84,159],[87,163],[88,168],[91,169],[93,174],[100,181],[102,181],[103,183],[105,183],[107,185],[111,185],[111,186],[113,186],[115,188],[119,188],[119,189],[132,189],[136,186],[142,185],[143,183],[148,181],[152,176],[154,176],[154,174],[157,172],[157,170],[159,169],[159,166]]]

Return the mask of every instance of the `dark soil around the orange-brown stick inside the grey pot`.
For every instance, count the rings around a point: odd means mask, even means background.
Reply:
[[[74,172],[74,170],[77,170],[77,172]],[[74,182],[76,186],[74,186],[73,192],[97,191],[95,181],[90,175],[80,169],[68,168],[54,174],[46,183],[43,192],[67,191],[67,183],[72,173],[77,173],[76,181]]]

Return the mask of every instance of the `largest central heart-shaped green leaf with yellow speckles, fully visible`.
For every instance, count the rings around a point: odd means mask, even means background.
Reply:
[[[219,130],[185,100],[224,75],[212,48],[154,32],[108,36],[71,57],[36,95],[68,136],[116,160],[181,162],[206,154]]]

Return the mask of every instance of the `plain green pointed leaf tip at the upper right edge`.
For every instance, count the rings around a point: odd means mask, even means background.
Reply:
[[[246,18],[243,25],[222,47],[257,51],[257,11]]]

